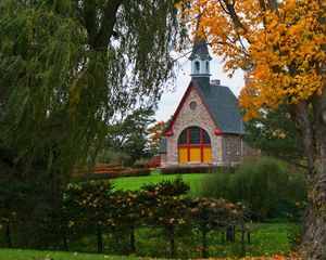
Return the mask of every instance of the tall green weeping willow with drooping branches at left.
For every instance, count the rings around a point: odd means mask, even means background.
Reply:
[[[178,29],[173,0],[1,0],[1,185],[52,204],[108,123],[155,104]]]

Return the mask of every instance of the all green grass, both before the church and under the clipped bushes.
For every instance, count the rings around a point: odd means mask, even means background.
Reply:
[[[197,194],[200,191],[201,180],[208,176],[202,173],[183,174],[185,182],[190,185],[190,194]],[[116,188],[139,190],[145,183],[158,183],[163,180],[173,180],[177,174],[161,176],[158,171],[152,171],[150,177],[130,177],[114,180]],[[253,223],[251,226],[251,243],[246,243],[246,256],[273,256],[287,255],[290,252],[290,240],[288,238],[289,230],[293,227],[290,222],[269,221]],[[191,231],[190,231],[191,232]],[[162,235],[162,231],[142,227],[136,231],[137,255],[141,257],[168,257],[168,242]],[[243,253],[240,238],[237,236],[236,243],[226,243],[222,240],[221,233],[210,233],[209,235],[210,257],[226,258],[239,257]],[[80,251],[95,251],[96,237],[86,237],[76,244],[70,244],[71,252],[62,251],[36,251],[20,249],[0,249],[0,260],[105,260],[105,259],[139,259],[134,256],[121,257],[120,253],[128,251],[128,235],[126,237],[116,237],[109,239],[104,237],[105,255],[82,253]],[[184,237],[176,239],[178,258],[199,258],[200,257],[200,237],[187,233]],[[74,251],[78,252],[74,252]]]

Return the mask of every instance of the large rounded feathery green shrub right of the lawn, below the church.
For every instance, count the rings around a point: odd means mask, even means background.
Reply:
[[[205,177],[201,195],[243,202],[249,205],[253,218],[264,219],[280,200],[303,200],[306,183],[302,172],[291,172],[284,164],[263,157],[244,162],[234,174]]]

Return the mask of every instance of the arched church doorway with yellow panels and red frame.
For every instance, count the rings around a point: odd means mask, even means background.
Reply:
[[[178,140],[179,162],[211,162],[211,139],[200,127],[186,128]]]

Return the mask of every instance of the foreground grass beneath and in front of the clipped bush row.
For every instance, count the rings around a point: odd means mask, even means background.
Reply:
[[[272,221],[252,224],[251,244],[246,243],[244,253],[249,257],[259,256],[275,256],[288,255],[290,252],[290,244],[288,239],[288,230],[292,223]],[[120,240],[120,243],[117,243]],[[122,239],[115,240],[114,246],[116,251],[121,247],[127,246]],[[168,257],[168,243],[158,230],[140,229],[136,233],[137,251],[141,257]],[[212,258],[238,258],[241,251],[240,238],[236,237],[236,243],[222,242],[221,234],[211,233],[209,236],[209,251]],[[89,242],[88,242],[89,243]],[[108,240],[106,240],[108,243]],[[113,243],[113,240],[112,240]],[[177,238],[178,258],[200,258],[200,239],[199,237],[183,237]],[[123,245],[124,244],[124,245]],[[108,244],[106,244],[108,245]],[[83,247],[85,249],[85,247]],[[106,248],[106,253],[116,255],[116,251],[111,251]],[[82,248],[80,248],[82,249]],[[34,258],[33,258],[34,257]],[[48,257],[48,258],[47,258]],[[0,249],[0,260],[120,260],[120,259],[140,259],[135,256],[105,256],[91,255],[80,252],[62,252],[62,251],[36,251],[36,250],[20,250],[20,249]]]

